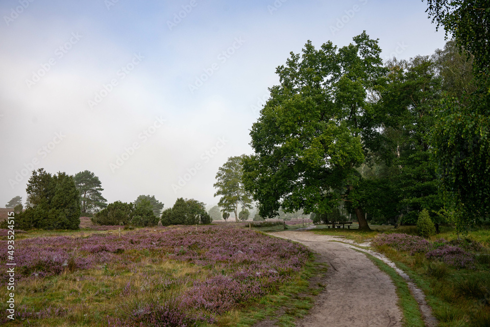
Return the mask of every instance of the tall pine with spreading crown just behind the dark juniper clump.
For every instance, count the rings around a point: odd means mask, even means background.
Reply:
[[[80,194],[82,213],[94,213],[107,206],[107,200],[100,193],[104,189],[94,173],[85,170],[75,175],[76,188]]]

